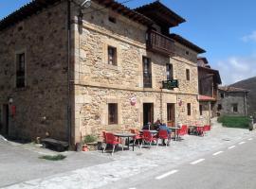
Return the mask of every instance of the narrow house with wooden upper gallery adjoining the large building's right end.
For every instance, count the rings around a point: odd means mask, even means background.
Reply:
[[[210,125],[210,117],[217,115],[218,85],[222,83],[218,70],[210,68],[206,58],[198,58],[199,112],[203,125]]]

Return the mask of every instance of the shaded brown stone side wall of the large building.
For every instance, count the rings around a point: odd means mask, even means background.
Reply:
[[[16,106],[9,136],[67,140],[66,3],[45,9],[0,32],[0,107]],[[26,82],[15,87],[16,53],[26,53]],[[2,118],[3,120],[3,118]]]

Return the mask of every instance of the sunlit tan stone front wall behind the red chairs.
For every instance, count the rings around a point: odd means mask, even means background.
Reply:
[[[95,4],[92,7],[101,9]],[[75,17],[77,10],[73,13]],[[108,21],[108,16],[113,14],[116,24]],[[154,120],[167,121],[167,103],[174,103],[177,122],[190,125],[198,120],[196,59],[192,61],[180,53],[170,58],[147,51],[147,28],[108,9],[90,14],[85,11],[83,26],[76,25],[73,29],[76,142],[86,134],[101,134],[101,130],[141,128],[143,103],[154,103]],[[117,48],[117,66],[107,64],[108,45]],[[143,88],[143,56],[152,60],[153,88]],[[161,82],[166,80],[166,63],[173,64],[179,88],[161,92]],[[191,71],[191,80],[186,79],[186,69]],[[137,98],[136,106],[130,104],[133,96]],[[181,106],[177,105],[177,99],[182,101]],[[108,103],[118,103],[118,125],[108,125]],[[190,116],[187,115],[187,103],[192,104]]]

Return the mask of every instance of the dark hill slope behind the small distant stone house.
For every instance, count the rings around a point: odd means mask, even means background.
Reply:
[[[256,112],[256,77],[247,78],[231,84],[232,87],[247,89],[248,93],[248,113]]]

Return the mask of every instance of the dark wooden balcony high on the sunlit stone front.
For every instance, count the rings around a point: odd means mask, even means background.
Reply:
[[[174,53],[174,41],[154,30],[147,33],[147,49],[164,55]]]

